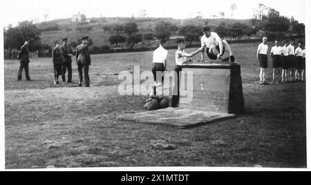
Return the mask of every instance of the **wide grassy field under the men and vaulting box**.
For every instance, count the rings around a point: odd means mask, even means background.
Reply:
[[[92,55],[91,88],[53,85],[51,59],[31,59],[30,77],[34,81],[17,82],[19,62],[5,61],[6,168],[305,168],[305,84],[260,86],[256,46],[257,43],[232,46],[236,61],[241,64],[245,114],[190,129],[116,119],[124,113],[145,111],[146,97],[117,93],[117,74],[133,71],[135,65],[149,70],[152,52]],[[173,70],[173,52],[169,50],[169,70]],[[272,78],[271,61],[267,79]],[[74,63],[73,67],[77,82]],[[158,150],[152,147],[155,141],[176,148]]]

